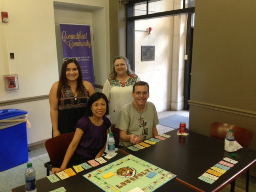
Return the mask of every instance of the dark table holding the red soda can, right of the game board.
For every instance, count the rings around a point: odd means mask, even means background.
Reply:
[[[242,148],[233,152],[236,154],[233,157],[231,152],[224,150],[224,141],[186,131],[188,136],[178,136],[178,129],[167,132],[170,138],[136,152],[128,148],[121,150],[176,174],[176,180],[198,191],[220,191],[256,163],[254,150]],[[213,184],[198,179],[226,157],[238,163]]]

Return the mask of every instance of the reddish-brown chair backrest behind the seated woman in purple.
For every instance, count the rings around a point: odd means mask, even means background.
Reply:
[[[60,167],[64,156],[71,143],[75,132],[63,134],[54,138],[48,139],[44,146],[48,152],[52,167]]]

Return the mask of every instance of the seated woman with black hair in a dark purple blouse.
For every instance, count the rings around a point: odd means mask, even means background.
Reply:
[[[103,93],[96,92],[90,96],[86,114],[76,123],[76,132],[70,143],[60,168],[52,168],[52,174],[61,172],[73,165],[99,158],[106,149],[110,120],[108,99]]]

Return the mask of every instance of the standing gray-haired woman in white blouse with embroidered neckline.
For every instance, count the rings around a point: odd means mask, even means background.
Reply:
[[[132,86],[140,81],[140,78],[131,70],[129,60],[123,56],[114,59],[110,77],[106,80],[102,93],[109,102],[109,116],[111,124],[116,123],[116,119],[122,106],[132,102]]]

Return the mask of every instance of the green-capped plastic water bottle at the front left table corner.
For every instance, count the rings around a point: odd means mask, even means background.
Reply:
[[[25,171],[25,187],[26,192],[36,192],[36,172],[32,167],[32,163],[27,164]]]

